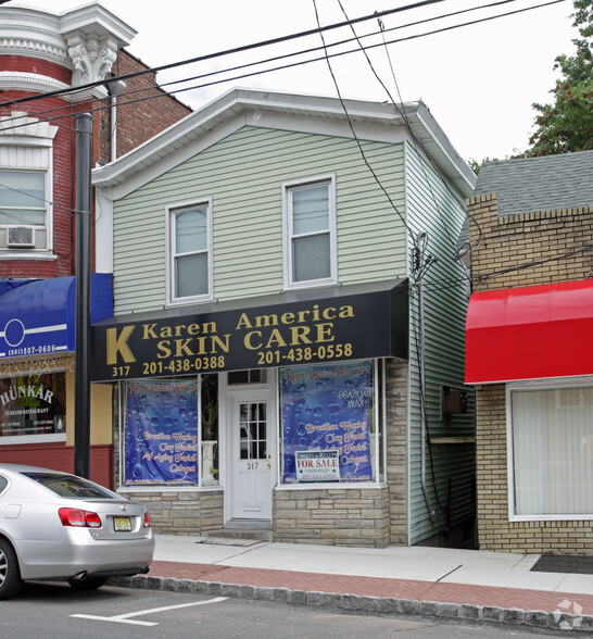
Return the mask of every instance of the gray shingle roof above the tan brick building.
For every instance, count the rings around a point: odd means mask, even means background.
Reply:
[[[484,162],[474,195],[491,192],[501,216],[593,205],[593,151]]]

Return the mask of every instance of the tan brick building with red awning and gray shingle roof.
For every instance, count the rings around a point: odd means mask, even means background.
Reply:
[[[480,548],[593,554],[593,151],[485,163],[468,203]]]

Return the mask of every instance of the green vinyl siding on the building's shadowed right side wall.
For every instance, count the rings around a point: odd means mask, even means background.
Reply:
[[[430,185],[430,187],[429,187]],[[437,521],[431,522],[421,487],[419,296],[411,291],[409,343],[409,542],[417,543],[474,515],[475,446],[444,443],[471,438],[472,391],[464,386],[467,277],[455,259],[455,240],[465,218],[463,203],[416,152],[406,147],[406,205],[413,234],[428,234],[427,253],[437,258],[422,279],[426,411],[426,487]],[[468,391],[468,413],[443,416],[442,388]],[[441,442],[439,441],[441,438]]]

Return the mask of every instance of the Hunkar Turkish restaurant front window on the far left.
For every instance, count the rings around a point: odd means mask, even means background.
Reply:
[[[65,373],[0,378],[0,444],[65,438]]]

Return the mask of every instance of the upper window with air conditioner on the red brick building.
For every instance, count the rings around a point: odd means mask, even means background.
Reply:
[[[56,131],[58,127],[26,113],[0,118],[2,258],[51,258]]]

